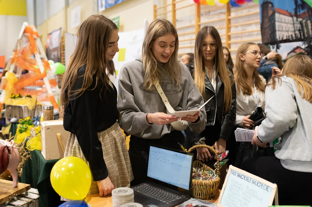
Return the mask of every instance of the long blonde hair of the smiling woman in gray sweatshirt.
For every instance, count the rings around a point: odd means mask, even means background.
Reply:
[[[153,43],[157,38],[167,34],[175,36],[174,52],[170,56],[167,63],[164,63],[160,68],[157,60],[152,52]],[[165,19],[156,19],[148,27],[142,48],[142,63],[145,70],[144,87],[146,90],[153,90],[154,82],[157,79],[162,79],[162,70],[165,70],[173,83],[177,83],[178,87],[181,85],[181,66],[178,61],[179,40],[178,33],[173,24]]]

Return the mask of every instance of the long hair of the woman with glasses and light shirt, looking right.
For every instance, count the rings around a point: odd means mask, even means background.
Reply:
[[[256,43],[253,43],[253,42],[244,43],[241,46],[239,46],[239,48],[237,49],[236,61],[235,61],[235,65],[233,68],[233,70],[235,71],[234,76],[235,76],[237,94],[239,94],[240,91],[242,91],[244,95],[252,94],[252,90],[251,90],[252,86],[247,81],[247,72],[244,66],[244,61],[240,59],[239,55],[246,53],[246,51],[253,45],[256,45]],[[259,73],[257,72],[257,68],[254,69],[252,77],[255,80],[256,88],[259,91],[264,92],[265,85],[264,85],[264,82],[261,80]]]

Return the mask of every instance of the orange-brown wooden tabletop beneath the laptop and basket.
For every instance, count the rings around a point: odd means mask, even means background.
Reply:
[[[209,200],[212,203],[217,203],[219,196],[220,196],[221,190],[217,189],[217,195],[214,197],[214,199]],[[87,196],[87,202],[90,204],[91,207],[112,207],[112,197],[111,195],[100,197],[99,194],[92,194]]]

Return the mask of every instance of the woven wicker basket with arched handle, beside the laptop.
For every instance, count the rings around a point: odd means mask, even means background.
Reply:
[[[219,163],[219,157],[214,150],[214,148],[204,145],[204,144],[198,144],[188,149],[188,153],[191,153],[196,148],[208,148],[211,152],[215,153],[217,157],[217,170],[216,173],[219,174],[220,169],[220,163]],[[193,162],[193,167],[196,169],[199,169],[203,167],[205,170],[213,170],[212,168],[208,167],[206,164],[203,164],[202,162],[196,160]],[[202,200],[210,200],[216,195],[217,188],[220,183],[220,177],[218,176],[216,180],[195,180],[192,179],[192,186],[191,186],[191,194],[192,197],[202,199]]]

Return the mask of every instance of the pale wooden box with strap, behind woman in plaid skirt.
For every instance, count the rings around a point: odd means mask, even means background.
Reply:
[[[40,128],[42,156],[46,160],[64,158],[63,150],[66,148],[70,132],[64,129],[63,120],[41,121]]]

